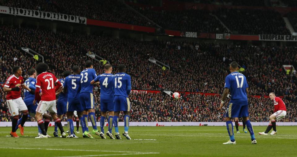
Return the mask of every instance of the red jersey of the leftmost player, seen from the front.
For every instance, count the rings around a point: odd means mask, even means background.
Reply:
[[[15,75],[11,75],[7,78],[4,87],[14,88],[19,87],[19,91],[9,91],[6,95],[6,100],[17,99],[21,97],[21,85],[24,85],[23,76],[16,77]]]

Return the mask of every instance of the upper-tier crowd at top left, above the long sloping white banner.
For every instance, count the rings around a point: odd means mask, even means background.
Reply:
[[[0,0],[0,5],[77,15],[103,21],[153,26],[147,19],[117,0]]]

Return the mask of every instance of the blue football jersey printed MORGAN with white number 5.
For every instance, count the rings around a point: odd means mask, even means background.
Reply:
[[[67,89],[68,99],[80,97],[80,75],[69,75],[65,78],[64,88]]]

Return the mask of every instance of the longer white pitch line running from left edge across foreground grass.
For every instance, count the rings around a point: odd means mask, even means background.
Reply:
[[[49,150],[49,151],[94,151],[94,152],[113,152],[113,153],[150,153],[159,154],[158,152],[139,152],[139,151],[101,151],[101,150],[81,150],[81,149],[51,149],[51,148],[13,148],[0,147],[0,149],[27,149],[27,150]]]

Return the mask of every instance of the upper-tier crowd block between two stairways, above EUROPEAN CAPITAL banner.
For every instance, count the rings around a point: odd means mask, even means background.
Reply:
[[[274,10],[220,9],[215,14],[235,34],[291,35],[281,14]]]

